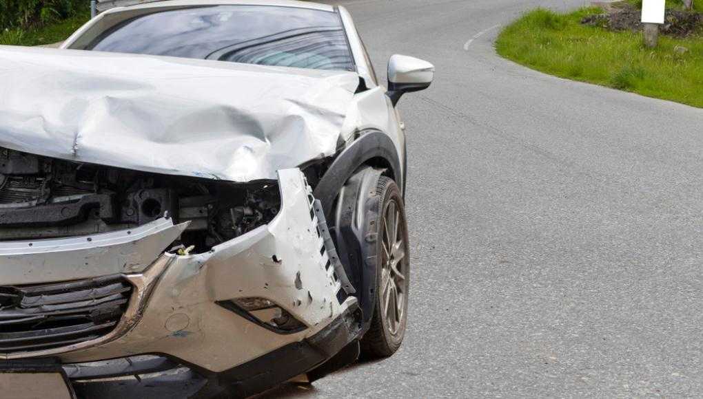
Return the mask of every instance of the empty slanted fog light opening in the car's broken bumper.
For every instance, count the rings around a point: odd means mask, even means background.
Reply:
[[[237,298],[217,304],[277,334],[294,334],[307,328],[288,311],[266,298]]]

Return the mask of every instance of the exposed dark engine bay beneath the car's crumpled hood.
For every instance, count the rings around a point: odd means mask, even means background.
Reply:
[[[190,222],[176,245],[205,252],[271,222],[279,209],[275,180],[157,175],[0,148],[2,241],[99,234],[170,217]]]

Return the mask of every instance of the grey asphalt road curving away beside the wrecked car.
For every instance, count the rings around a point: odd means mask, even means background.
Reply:
[[[498,25],[558,0],[359,0],[401,100],[413,284],[405,344],[264,398],[703,395],[703,110],[499,58]]]

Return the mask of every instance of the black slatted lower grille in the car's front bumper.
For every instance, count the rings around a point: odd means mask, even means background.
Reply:
[[[0,352],[52,349],[108,334],[131,290],[121,276],[0,287]]]

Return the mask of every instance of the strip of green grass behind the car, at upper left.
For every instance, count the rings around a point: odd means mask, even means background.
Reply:
[[[1,1],[1,0],[0,0]],[[90,19],[90,11],[82,11],[76,16],[60,22],[34,29],[9,29],[0,32],[0,44],[11,46],[40,46],[64,41]]]

